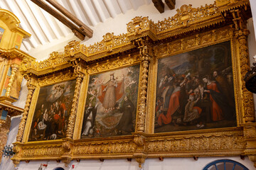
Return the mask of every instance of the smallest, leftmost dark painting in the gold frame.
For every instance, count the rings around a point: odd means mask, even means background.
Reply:
[[[75,91],[75,80],[41,87],[28,141],[65,137]]]

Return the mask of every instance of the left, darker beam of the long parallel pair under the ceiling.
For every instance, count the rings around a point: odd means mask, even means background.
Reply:
[[[71,22],[68,18],[63,16],[63,14],[56,11],[54,8],[46,4],[46,2],[44,2],[43,0],[31,0],[31,1],[33,1],[33,3],[35,3],[39,7],[43,8],[43,10],[50,13],[50,15],[57,18],[58,21],[63,23],[65,26],[70,28],[70,30],[72,30],[75,36],[77,36],[80,40],[85,40],[85,36],[92,38],[93,31],[91,29],[89,30],[89,32],[87,32],[87,28],[84,28],[84,26],[75,26],[74,21],[73,21],[74,23]]]

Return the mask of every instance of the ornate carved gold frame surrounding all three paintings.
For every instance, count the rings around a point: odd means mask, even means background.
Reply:
[[[241,17],[241,15],[243,17]],[[251,17],[247,0],[218,0],[200,8],[183,5],[177,14],[154,23],[135,17],[127,33],[107,33],[101,42],[86,47],[72,41],[63,53],[48,60],[26,59],[21,70],[28,79],[28,97],[19,125],[14,164],[26,160],[136,159],[139,166],[149,157],[214,157],[247,155],[256,165],[256,124],[252,94],[245,88],[250,69],[246,20]],[[154,134],[157,61],[218,42],[231,41],[233,80],[238,126]],[[136,130],[132,135],[80,140],[82,113],[90,75],[140,63]],[[64,139],[27,142],[39,84],[61,81],[55,74],[68,72],[76,79],[68,132]],[[43,79],[44,81],[40,81]],[[35,90],[36,89],[36,90]],[[26,128],[25,128],[26,124]],[[24,131],[25,128],[25,131]]]

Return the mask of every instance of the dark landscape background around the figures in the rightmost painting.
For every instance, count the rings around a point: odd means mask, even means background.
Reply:
[[[227,80],[226,83],[228,83],[229,87],[228,91],[230,91],[231,94],[231,96],[228,96],[228,98],[231,106],[230,109],[232,111],[230,111],[230,113],[224,113],[224,115],[226,114],[225,118],[219,121],[210,120],[210,113],[205,114],[206,111],[202,111],[203,116],[201,116],[201,118],[184,123],[184,109],[189,98],[188,91],[186,91],[184,93],[181,93],[181,96],[183,96],[183,101],[181,101],[182,104],[180,107],[181,111],[179,111],[180,113],[178,115],[174,115],[177,117],[176,122],[174,122],[173,119],[171,123],[159,125],[159,123],[157,123],[158,117],[155,117],[156,121],[154,132],[174,132],[181,130],[227,128],[236,126],[232,70],[233,69],[230,51],[230,41],[221,42],[219,44],[211,45],[209,47],[203,47],[201,49],[193,50],[191,52],[186,52],[183,54],[160,59],[157,70],[158,73],[156,83],[156,110],[159,109],[159,106],[161,105],[160,99],[162,99],[161,97],[163,96],[162,92],[164,87],[159,87],[159,85],[161,84],[161,80],[163,80],[164,77],[175,77],[174,79],[181,79],[181,81],[183,81],[183,79],[188,74],[190,74],[189,77],[191,77],[191,79],[193,79],[193,77],[197,77],[200,81],[200,84],[204,86],[204,89],[207,89],[206,84],[203,82],[203,77],[208,77],[208,79],[212,79],[213,81],[215,81],[215,78],[213,77],[213,72],[217,71],[220,77],[224,77]],[[158,112],[161,113],[161,111]],[[162,113],[166,115],[166,112]],[[156,113],[155,116],[156,115],[159,114]],[[201,125],[199,126],[200,123]]]

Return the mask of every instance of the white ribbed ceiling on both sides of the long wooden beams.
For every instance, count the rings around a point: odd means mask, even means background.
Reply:
[[[57,0],[70,13],[90,28],[98,23],[114,18],[130,9],[151,4],[151,0]],[[31,0],[0,0],[0,8],[14,13],[21,21],[20,27],[31,33],[31,38],[23,40],[22,50],[26,52],[39,45],[46,45],[70,35],[72,31],[58,19],[39,8]],[[93,37],[93,35],[92,35]]]

